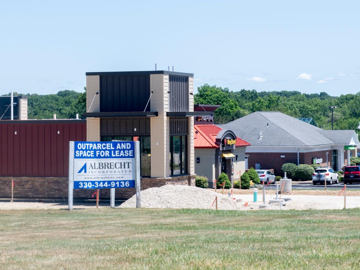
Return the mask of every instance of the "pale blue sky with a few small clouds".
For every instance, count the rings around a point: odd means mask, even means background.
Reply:
[[[2,1],[0,94],[85,72],[194,73],[230,90],[360,91],[359,1]]]

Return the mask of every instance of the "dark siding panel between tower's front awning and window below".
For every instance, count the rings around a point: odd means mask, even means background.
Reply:
[[[109,126],[112,128],[109,129]],[[150,136],[150,118],[102,118],[100,121],[100,132],[101,136]]]

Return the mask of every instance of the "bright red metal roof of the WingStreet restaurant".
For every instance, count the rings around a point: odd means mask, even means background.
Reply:
[[[218,148],[220,147],[215,143],[217,134],[222,129],[215,125],[194,125],[194,131],[198,131],[198,134],[194,133],[194,147],[195,148]],[[247,141],[244,141],[236,137],[236,146],[248,146],[251,145]]]

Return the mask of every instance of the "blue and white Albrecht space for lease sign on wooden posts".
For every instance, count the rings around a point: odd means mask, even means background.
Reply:
[[[139,159],[139,141],[70,141],[69,210],[73,189],[110,188],[113,206],[115,188],[136,187],[140,207]]]

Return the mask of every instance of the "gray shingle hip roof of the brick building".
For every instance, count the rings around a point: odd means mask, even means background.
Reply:
[[[269,126],[267,126],[269,125]],[[354,130],[322,130],[281,112],[254,112],[226,123],[230,129],[252,146],[300,146],[348,144]],[[259,140],[259,132],[262,138]],[[335,130],[334,130],[335,131]],[[356,142],[355,142],[356,143]]]

